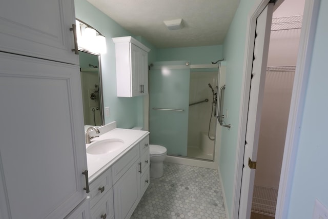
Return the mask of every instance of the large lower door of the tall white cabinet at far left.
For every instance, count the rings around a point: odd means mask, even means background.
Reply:
[[[2,219],[64,218],[87,196],[79,75],[75,65],[0,52]]]

